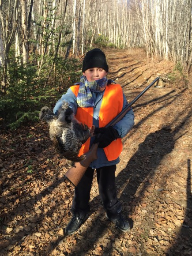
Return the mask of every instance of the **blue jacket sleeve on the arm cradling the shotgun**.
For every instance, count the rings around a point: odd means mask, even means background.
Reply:
[[[127,105],[128,105],[127,99],[123,94],[123,109]],[[113,126],[113,128],[115,128],[119,133],[120,138],[123,138],[124,136],[126,136],[128,132],[131,130],[131,128],[133,127],[134,117],[135,116],[134,116],[133,110],[131,109],[124,115],[124,117],[119,122],[117,122],[117,124]]]

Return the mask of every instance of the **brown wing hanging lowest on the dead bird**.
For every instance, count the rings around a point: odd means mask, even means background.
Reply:
[[[53,146],[58,154],[66,158],[67,160],[73,162],[80,162],[85,159],[85,155],[78,156],[79,152],[72,152],[72,151],[64,151],[62,150],[62,143],[60,143],[60,138],[57,136],[53,137]]]

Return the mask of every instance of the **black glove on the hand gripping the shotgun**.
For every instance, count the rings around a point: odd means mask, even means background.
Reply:
[[[95,137],[94,143],[99,143],[98,147],[107,147],[113,140],[119,137],[119,133],[113,127],[103,127],[94,129]]]

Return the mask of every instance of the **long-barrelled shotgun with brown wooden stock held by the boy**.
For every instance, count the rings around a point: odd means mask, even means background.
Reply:
[[[124,115],[131,109],[131,106],[150,88],[158,81],[159,77],[154,79],[150,85],[148,85],[132,102],[130,102],[112,121],[109,122],[105,127],[113,126],[119,122]],[[83,177],[90,163],[97,159],[97,148],[99,143],[95,143],[90,147],[90,150],[85,153],[86,158],[81,162],[76,162],[74,167],[68,169],[65,173],[65,178],[68,179],[75,187],[79,184],[79,181]]]

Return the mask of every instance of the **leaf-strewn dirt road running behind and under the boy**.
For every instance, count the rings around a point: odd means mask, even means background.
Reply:
[[[128,101],[171,65],[142,52],[106,51],[109,78]],[[72,236],[74,190],[68,166],[55,154],[47,127],[2,134],[0,255],[192,255],[192,96],[188,89],[152,87],[133,106],[135,126],[123,139],[117,192],[133,224],[121,233],[105,218],[96,178],[89,218]]]

